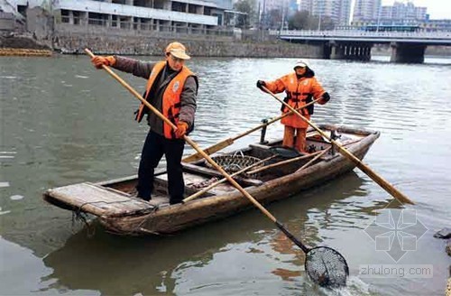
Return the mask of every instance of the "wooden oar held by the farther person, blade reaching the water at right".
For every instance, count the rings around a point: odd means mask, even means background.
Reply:
[[[400,202],[408,203],[411,205],[414,205],[415,203],[410,200],[407,196],[402,194],[400,190],[397,190],[393,187],[388,181],[384,180],[379,174],[377,174],[375,171],[373,171],[370,167],[364,164],[364,162],[361,162],[357,157],[354,156],[353,153],[350,153],[347,151],[341,144],[337,143],[335,140],[331,139],[325,132],[323,132],[317,125],[314,125],[311,121],[309,121],[306,117],[302,116],[298,111],[296,111],[292,106],[288,105],[284,101],[282,101],[279,97],[276,97],[268,88],[262,87],[264,91],[266,91],[268,94],[270,94],[272,97],[274,97],[276,100],[281,102],[284,106],[287,106],[294,114],[299,116],[303,121],[308,123],[311,127],[313,127],[319,134],[324,136],[327,140],[330,141],[330,143],[336,145],[336,148],[338,148],[338,152],[342,153],[347,159],[349,159],[351,162],[354,162],[355,166],[359,168],[361,171],[364,171],[368,177],[373,179],[377,184],[379,184],[382,189],[387,191],[391,194],[391,196],[395,199],[400,200]]]

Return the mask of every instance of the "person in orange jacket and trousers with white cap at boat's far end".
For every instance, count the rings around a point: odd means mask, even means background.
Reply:
[[[257,88],[268,88],[272,93],[285,91],[287,97],[284,102],[295,109],[308,104],[313,99],[321,97],[319,104],[324,105],[330,99],[329,94],[321,87],[315,78],[315,72],[308,67],[305,60],[298,60],[294,65],[294,72],[282,76],[274,81],[257,81]],[[281,106],[281,112],[290,112],[287,106]],[[300,114],[310,119],[313,114],[313,105],[300,110]],[[296,148],[300,153],[306,153],[306,134],[308,123],[303,121],[296,114],[285,116],[281,119],[281,124],[285,125],[283,134],[283,145]],[[295,143],[296,134],[296,143]]]

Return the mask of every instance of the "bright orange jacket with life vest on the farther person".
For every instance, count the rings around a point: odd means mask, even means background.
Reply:
[[[303,77],[298,79],[295,72],[287,74],[275,81],[266,82],[266,87],[273,93],[281,93],[285,90],[287,97],[285,97],[284,102],[295,109],[308,104],[308,102],[312,101],[313,97],[318,98],[325,93],[317,79],[314,77]],[[287,113],[290,109],[287,106],[282,106],[281,111],[282,113]],[[313,108],[307,107],[301,109],[299,113],[309,120],[310,115],[313,114]],[[303,121],[296,114],[283,117],[281,119],[281,124],[295,128],[308,127],[308,123]]]

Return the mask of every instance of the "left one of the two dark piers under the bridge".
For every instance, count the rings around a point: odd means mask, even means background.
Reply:
[[[372,44],[331,42],[331,60],[371,60]]]

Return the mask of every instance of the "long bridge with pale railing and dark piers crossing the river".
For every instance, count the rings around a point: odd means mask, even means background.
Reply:
[[[323,58],[370,60],[374,44],[390,44],[391,62],[422,63],[428,46],[451,46],[451,32],[272,31],[287,42],[321,46]]]

